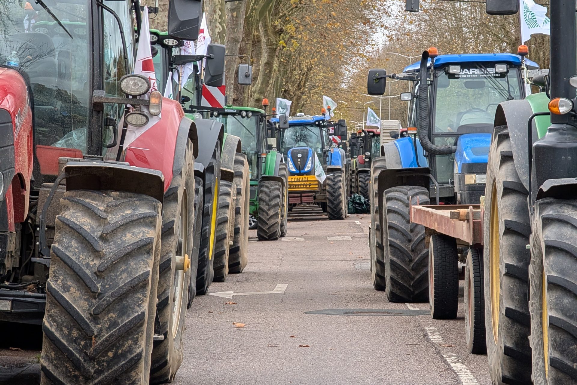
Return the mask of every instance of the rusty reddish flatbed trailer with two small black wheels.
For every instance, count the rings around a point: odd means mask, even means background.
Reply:
[[[454,319],[459,262],[465,264],[465,337],[470,353],[486,352],[483,276],[484,199],[477,205],[411,205],[411,223],[425,227],[429,245],[429,305],[434,319]]]

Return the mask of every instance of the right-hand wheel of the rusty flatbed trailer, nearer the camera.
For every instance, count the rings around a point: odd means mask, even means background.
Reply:
[[[465,263],[465,341],[473,354],[485,354],[485,288],[483,262],[478,249],[469,249]]]

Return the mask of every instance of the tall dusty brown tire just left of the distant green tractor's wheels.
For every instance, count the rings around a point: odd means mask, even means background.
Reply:
[[[250,180],[246,155],[237,154],[234,159],[234,186],[237,199],[234,210],[234,240],[228,254],[228,272],[240,273],[248,264]]]

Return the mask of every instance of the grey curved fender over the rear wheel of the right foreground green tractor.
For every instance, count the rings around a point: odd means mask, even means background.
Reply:
[[[509,100],[497,106],[494,126],[507,126],[515,169],[523,186],[529,191],[529,118],[533,115],[527,100]],[[535,119],[531,123],[533,143],[538,139]],[[495,136],[491,141],[495,140]]]

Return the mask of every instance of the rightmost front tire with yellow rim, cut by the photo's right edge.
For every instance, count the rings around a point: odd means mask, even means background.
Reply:
[[[575,384],[577,383],[575,200],[545,198],[538,201],[533,224],[529,267],[533,384]]]

